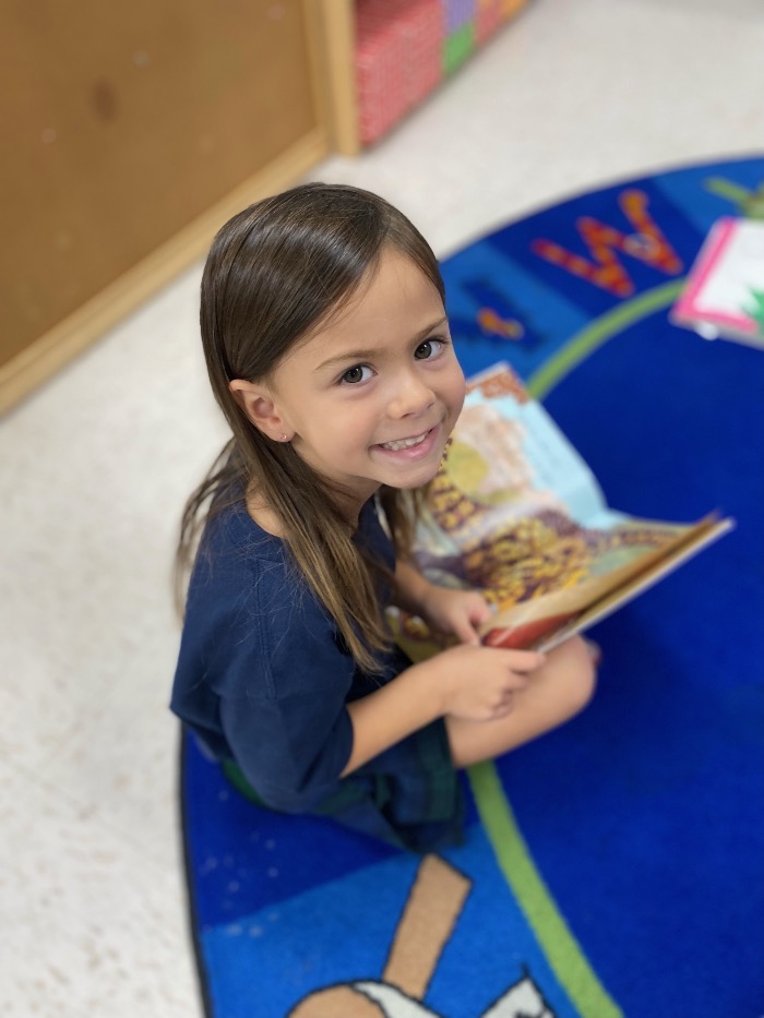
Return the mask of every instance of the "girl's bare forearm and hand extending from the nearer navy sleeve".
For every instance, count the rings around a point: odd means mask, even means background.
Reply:
[[[413,664],[374,693],[347,705],[353,750],[342,777],[435,718],[488,721],[509,714],[512,696],[544,663],[534,650],[461,645]]]

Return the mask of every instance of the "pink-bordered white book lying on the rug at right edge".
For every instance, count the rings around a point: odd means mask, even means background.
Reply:
[[[764,348],[764,221],[726,216],[712,227],[670,320],[706,339]]]

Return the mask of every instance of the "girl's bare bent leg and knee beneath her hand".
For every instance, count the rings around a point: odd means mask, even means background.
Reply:
[[[514,750],[557,728],[578,714],[592,699],[596,672],[580,636],[550,650],[542,668],[514,695],[510,714],[493,721],[446,717],[445,726],[456,767],[467,767]]]

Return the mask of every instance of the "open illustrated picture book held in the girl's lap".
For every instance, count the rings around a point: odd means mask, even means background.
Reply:
[[[490,646],[549,650],[697,554],[733,520],[638,519],[607,506],[589,468],[506,364],[470,380],[431,482],[415,558],[432,583],[479,589],[494,607]],[[391,610],[414,660],[442,647]]]

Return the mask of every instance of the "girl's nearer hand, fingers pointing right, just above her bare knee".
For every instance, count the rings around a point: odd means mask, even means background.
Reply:
[[[462,644],[443,650],[420,667],[433,669],[443,715],[491,721],[512,710],[514,694],[525,688],[528,675],[545,660],[536,650]]]

